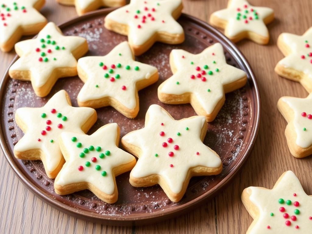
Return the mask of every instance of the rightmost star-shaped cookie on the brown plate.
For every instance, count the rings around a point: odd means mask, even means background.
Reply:
[[[225,93],[246,84],[246,72],[227,64],[220,43],[200,54],[172,50],[173,76],[158,87],[158,98],[168,104],[190,103],[208,122],[215,119],[225,101]]]

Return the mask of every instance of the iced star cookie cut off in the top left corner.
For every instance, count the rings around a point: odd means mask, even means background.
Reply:
[[[10,51],[22,35],[38,33],[47,23],[38,10],[45,0],[2,0],[0,5],[0,49]]]

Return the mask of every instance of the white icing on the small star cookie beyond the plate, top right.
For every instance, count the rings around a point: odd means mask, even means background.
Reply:
[[[245,5],[247,7],[245,7]],[[238,8],[240,11],[237,10]],[[257,12],[258,19],[255,18],[251,9],[254,10],[253,12]],[[245,10],[248,12],[244,12]],[[237,13],[241,13],[239,20],[236,19]],[[230,37],[234,37],[244,31],[255,32],[261,36],[268,37],[269,33],[263,19],[271,14],[273,14],[273,9],[268,7],[254,7],[246,0],[230,0],[226,9],[213,13],[213,15],[228,22],[225,27],[225,34]],[[246,19],[243,18],[244,15],[246,15]],[[249,17],[252,17],[252,19],[249,19]],[[248,22],[245,23],[245,20]]]

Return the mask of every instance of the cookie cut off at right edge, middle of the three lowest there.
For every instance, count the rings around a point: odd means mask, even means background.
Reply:
[[[287,121],[285,136],[290,153],[296,158],[312,154],[312,93],[306,98],[281,97],[277,102]]]

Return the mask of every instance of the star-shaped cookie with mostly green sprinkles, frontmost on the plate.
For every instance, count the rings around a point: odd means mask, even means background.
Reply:
[[[105,202],[116,202],[115,176],[136,163],[131,154],[118,148],[119,132],[116,123],[106,124],[90,136],[63,132],[60,147],[66,163],[55,179],[55,192],[66,195],[89,189]]]

